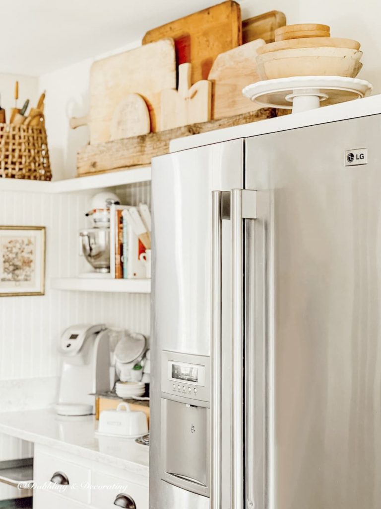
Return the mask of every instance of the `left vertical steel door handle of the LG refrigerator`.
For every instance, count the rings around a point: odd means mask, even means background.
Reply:
[[[210,509],[221,507],[222,220],[230,219],[230,192],[212,191],[211,471]]]

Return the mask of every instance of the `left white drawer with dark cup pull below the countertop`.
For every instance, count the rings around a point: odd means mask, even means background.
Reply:
[[[60,458],[53,457],[47,454],[38,453],[35,456],[34,461],[34,480],[38,486],[44,486],[44,483],[47,483],[47,492],[52,496],[58,498],[57,495],[54,494],[54,483],[50,482],[50,479],[54,474],[58,474],[57,484],[60,484],[60,475],[63,474],[67,477],[69,484],[64,486],[65,489],[60,490],[59,493],[62,497],[71,498],[78,502],[82,502],[84,504],[90,503],[90,483],[91,483],[91,471],[89,468],[85,468],[75,463],[71,463],[66,460],[61,460]],[[46,485],[45,485],[46,486]],[[37,492],[45,491],[39,490],[37,487]],[[56,493],[58,490],[56,490]],[[66,508],[69,507],[68,502],[66,501]],[[70,507],[72,507],[70,505]],[[76,506],[75,506],[76,507]],[[40,508],[38,508],[40,509]]]

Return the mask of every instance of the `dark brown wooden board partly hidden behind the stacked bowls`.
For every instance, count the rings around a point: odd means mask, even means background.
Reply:
[[[245,44],[255,39],[274,42],[274,31],[285,24],[285,15],[279,11],[265,12],[260,16],[245,19],[242,22],[242,43]]]

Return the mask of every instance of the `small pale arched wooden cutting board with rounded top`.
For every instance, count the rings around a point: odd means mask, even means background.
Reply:
[[[145,100],[139,94],[129,94],[114,111],[110,140],[131,138],[150,131],[151,123]]]

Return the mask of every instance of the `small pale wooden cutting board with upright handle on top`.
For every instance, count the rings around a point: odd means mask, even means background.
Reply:
[[[162,131],[210,120],[212,84],[202,79],[191,86],[191,73],[192,64],[181,64],[178,90],[163,90]]]

